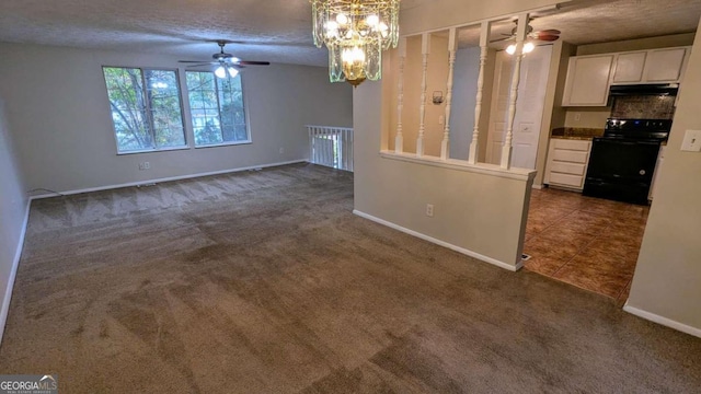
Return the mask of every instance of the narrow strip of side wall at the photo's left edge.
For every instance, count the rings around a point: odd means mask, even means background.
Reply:
[[[22,252],[28,206],[12,146],[0,96],[0,340],[10,308],[16,263]]]

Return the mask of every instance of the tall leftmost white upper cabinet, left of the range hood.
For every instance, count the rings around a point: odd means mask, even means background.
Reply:
[[[570,58],[563,106],[606,106],[614,54]]]

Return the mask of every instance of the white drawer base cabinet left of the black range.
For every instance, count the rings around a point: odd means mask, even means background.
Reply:
[[[590,151],[591,141],[552,138],[543,183],[582,192]]]

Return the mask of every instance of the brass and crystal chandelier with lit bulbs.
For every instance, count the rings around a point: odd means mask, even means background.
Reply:
[[[329,49],[331,82],[382,77],[382,50],[399,42],[400,0],[310,0],[314,45]]]

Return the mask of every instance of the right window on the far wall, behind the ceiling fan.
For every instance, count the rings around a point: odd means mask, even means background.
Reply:
[[[203,71],[185,76],[195,147],[250,142],[241,76],[222,79]]]

